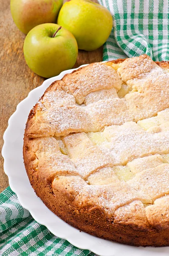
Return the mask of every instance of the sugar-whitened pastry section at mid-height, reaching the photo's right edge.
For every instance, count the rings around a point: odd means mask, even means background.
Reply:
[[[151,134],[135,122],[104,129],[104,136],[110,139],[110,154],[117,164],[126,164],[149,154],[169,153],[169,131]]]

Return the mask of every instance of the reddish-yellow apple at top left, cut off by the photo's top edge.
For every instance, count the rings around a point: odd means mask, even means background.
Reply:
[[[11,15],[24,34],[42,23],[56,23],[63,0],[11,0]]]

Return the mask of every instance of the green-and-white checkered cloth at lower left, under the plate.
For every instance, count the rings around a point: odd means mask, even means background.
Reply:
[[[37,223],[10,187],[0,194],[0,256],[96,256]]]

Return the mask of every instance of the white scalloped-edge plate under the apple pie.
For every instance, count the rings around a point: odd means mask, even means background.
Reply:
[[[86,65],[81,67],[83,66]],[[37,222],[45,225],[55,236],[68,240],[76,247],[91,250],[101,256],[144,256],[145,254],[146,256],[169,256],[169,247],[134,247],[79,232],[51,212],[32,189],[23,163],[23,134],[28,114],[53,81],[62,79],[65,74],[73,70],[63,71],[59,76],[45,80],[17,105],[17,110],[10,117],[8,128],[3,135],[2,155],[4,171],[8,175],[11,189],[17,194],[22,206],[28,209]]]

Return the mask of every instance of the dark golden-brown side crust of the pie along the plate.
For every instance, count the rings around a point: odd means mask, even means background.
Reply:
[[[124,60],[118,61],[122,62]],[[118,63],[118,61],[112,62]],[[32,115],[34,115],[33,111],[30,112],[28,120],[31,119]],[[28,127],[26,127],[27,129]],[[34,159],[32,159],[32,155],[28,150],[31,140],[24,136],[23,156],[28,178],[37,196],[59,218],[93,236],[118,243],[134,246],[169,246],[169,229],[147,227],[141,230],[135,226],[114,224],[113,218],[107,218],[107,215],[101,208],[82,209],[74,207],[68,196],[62,194],[62,192],[55,191],[54,194],[50,184],[39,180],[37,172],[34,171],[32,164]]]

